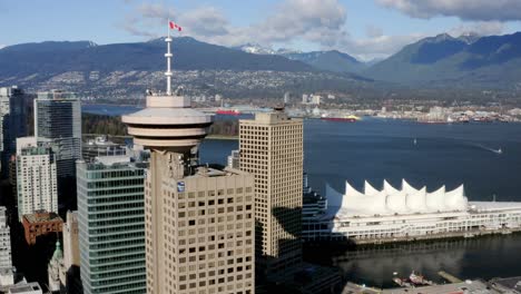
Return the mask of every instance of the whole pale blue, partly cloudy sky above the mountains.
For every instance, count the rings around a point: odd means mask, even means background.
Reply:
[[[521,31],[521,0],[0,0],[0,47],[89,40],[138,42],[176,35],[210,43],[384,58],[439,33]]]

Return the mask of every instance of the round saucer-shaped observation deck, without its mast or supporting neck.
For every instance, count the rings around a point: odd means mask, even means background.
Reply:
[[[148,96],[147,108],[122,116],[136,144],[189,150],[206,137],[213,117],[191,109],[183,96]]]

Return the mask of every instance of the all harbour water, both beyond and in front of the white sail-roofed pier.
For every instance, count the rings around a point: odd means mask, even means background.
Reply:
[[[201,161],[226,164],[226,156],[237,148],[236,140],[205,140]],[[521,124],[309,119],[304,148],[305,171],[322,193],[326,183],[343,192],[345,180],[361,189],[365,179],[380,188],[383,179],[400,186],[406,178],[427,190],[464,184],[471,200],[521,202]],[[494,151],[499,148],[501,154]],[[521,275],[521,235],[356,249],[315,247],[305,258],[340,266],[347,278],[373,286],[392,286],[393,272],[407,276],[416,271],[432,280],[441,270],[461,278],[514,276]]]

